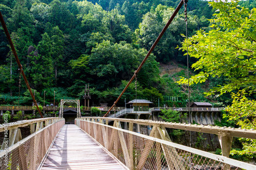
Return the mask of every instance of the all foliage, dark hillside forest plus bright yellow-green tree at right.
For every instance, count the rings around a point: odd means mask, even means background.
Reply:
[[[60,99],[82,99],[84,85],[90,84],[91,105],[112,105],[179,2],[0,0],[0,11],[37,102],[57,105]],[[180,10],[139,72],[137,98],[186,107],[188,89],[182,84],[187,83],[188,46],[191,101],[229,104],[225,120],[255,129],[255,5],[254,0],[190,0],[190,38],[184,41]],[[19,72],[2,27],[0,40],[0,104],[31,105],[23,80],[18,92]],[[164,64],[173,68],[168,71]],[[118,105],[135,95],[133,82]],[[163,112],[165,120],[178,121],[177,113]],[[254,140],[241,142],[244,150],[232,154],[255,152]]]

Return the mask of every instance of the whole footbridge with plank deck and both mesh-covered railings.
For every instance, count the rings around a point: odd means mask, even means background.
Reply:
[[[134,126],[150,127],[149,135]],[[31,133],[25,138],[24,127]],[[170,129],[218,135],[222,155],[174,143]],[[49,117],[2,124],[0,132],[0,169],[256,169],[229,158],[232,138],[256,139],[252,129],[109,117],[77,117],[65,125],[64,118]]]

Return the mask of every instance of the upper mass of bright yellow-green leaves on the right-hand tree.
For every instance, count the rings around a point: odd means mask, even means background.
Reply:
[[[252,87],[256,72],[255,10],[249,11],[234,2],[210,2],[210,5],[218,9],[215,19],[210,20],[212,30],[198,31],[180,48],[186,51],[188,46],[190,57],[199,59],[192,67],[202,71],[190,78],[191,84],[204,82],[208,76],[225,76],[226,84],[208,94]],[[204,74],[207,77],[202,76]],[[187,83],[187,80],[182,78],[179,83]]]

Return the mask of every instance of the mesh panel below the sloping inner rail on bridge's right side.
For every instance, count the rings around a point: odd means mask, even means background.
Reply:
[[[256,167],[224,156],[95,122],[77,119],[76,125],[129,169],[226,170]]]

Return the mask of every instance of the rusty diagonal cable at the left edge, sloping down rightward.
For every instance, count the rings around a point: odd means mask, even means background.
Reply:
[[[1,13],[1,11],[0,11],[0,20],[1,20],[1,23],[2,23],[2,26],[3,26],[3,29],[4,29],[4,31],[5,31],[5,35],[6,35],[8,41],[9,41],[9,44],[10,44],[10,46],[11,46],[13,55],[14,55],[14,57],[15,57],[15,59],[16,59],[17,64],[18,64],[18,68],[19,68],[20,72],[22,73],[23,79],[24,79],[24,81],[25,81],[25,83],[26,83],[26,85],[27,85],[27,87],[28,87],[28,89],[29,89],[30,95],[32,96],[32,99],[33,99],[33,101],[34,101],[34,105],[36,106],[36,108],[37,108],[38,112],[40,113],[41,117],[44,118],[44,116],[42,116],[42,113],[41,113],[39,107],[37,106],[36,100],[35,100],[35,98],[34,98],[34,95],[33,95],[32,91],[31,91],[31,88],[30,88],[30,86],[29,86],[29,82],[28,82],[28,80],[27,80],[27,78],[26,78],[26,76],[25,76],[24,70],[23,70],[23,68],[22,68],[22,64],[20,64],[20,62],[19,62],[18,55],[17,55],[16,50],[15,50],[15,47],[14,47],[14,45],[13,45],[13,43],[12,43],[12,39],[11,39],[10,34],[9,34],[9,32],[8,32],[8,29],[7,29],[7,27],[6,27],[5,20],[4,20],[4,18],[3,18],[3,15],[2,15],[2,13]]]

